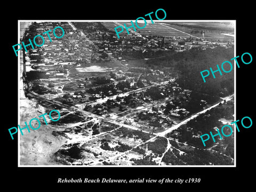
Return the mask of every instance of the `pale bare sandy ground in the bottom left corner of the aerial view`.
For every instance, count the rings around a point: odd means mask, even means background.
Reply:
[[[31,118],[38,118],[39,115],[45,113],[45,108],[37,105],[34,99],[20,100],[20,126],[25,127],[25,123],[29,124]],[[57,138],[52,135],[55,126],[43,124],[42,117],[41,127],[38,130],[23,130],[20,135],[20,165],[56,165],[53,161],[52,154],[66,142],[65,138]],[[50,119],[46,119],[51,122]],[[37,127],[37,126],[35,126]]]

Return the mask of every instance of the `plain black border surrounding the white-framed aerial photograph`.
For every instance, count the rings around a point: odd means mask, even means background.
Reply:
[[[167,3],[167,2],[166,2]],[[210,3],[207,5],[207,3]],[[64,5],[65,4],[65,5]],[[254,22],[253,22],[253,4],[244,2],[240,5],[232,4],[223,5],[215,2],[168,2],[168,5],[156,5],[154,2],[147,2],[139,6],[131,2],[107,2],[107,5],[101,2],[95,5],[86,4],[85,2],[59,2],[57,5],[45,2],[44,4],[35,5],[34,3],[22,2],[22,4],[13,8],[11,18],[6,19],[2,15],[2,39],[4,44],[4,61],[2,62],[2,111],[3,119],[3,152],[2,160],[4,161],[4,185],[17,186],[33,189],[33,187],[48,188],[58,187],[66,188],[68,186],[77,189],[86,189],[86,187],[105,189],[114,189],[118,187],[167,187],[170,190],[174,188],[195,188],[207,190],[210,188],[223,189],[233,188],[235,186],[246,185],[249,187],[253,183],[250,172],[253,168],[254,158],[254,127],[255,115],[253,110],[254,104]],[[98,5],[97,5],[98,4]],[[28,5],[33,5],[29,7]],[[147,6],[145,6],[147,5]],[[29,8],[28,8],[29,7]],[[26,19],[81,19],[81,20],[101,20],[101,19],[136,19],[143,15],[162,8],[166,11],[165,20],[236,20],[236,55],[242,55],[244,52],[252,54],[253,61],[250,65],[241,65],[236,71],[236,113],[237,119],[249,116],[253,119],[253,125],[250,129],[241,129],[236,138],[236,160],[237,167],[18,167],[18,137],[11,140],[7,129],[18,124],[18,58],[15,57],[12,45],[17,44],[18,40],[18,20]],[[6,30],[4,30],[4,28]],[[214,63],[214,61],[213,61]],[[218,64],[218,63],[215,63]],[[5,105],[6,103],[6,105]],[[139,183],[139,184],[100,184],[100,183],[57,183],[58,178],[76,179],[76,178],[112,178],[112,179],[187,179],[201,178],[200,183],[177,184],[165,183]],[[114,188],[113,188],[114,187]],[[123,188],[120,188],[122,190]]]

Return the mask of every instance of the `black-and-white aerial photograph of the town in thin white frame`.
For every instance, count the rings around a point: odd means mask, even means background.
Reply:
[[[235,21],[137,23],[19,21],[20,166],[235,165]]]

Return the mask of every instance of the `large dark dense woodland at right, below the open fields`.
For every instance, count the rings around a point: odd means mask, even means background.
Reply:
[[[147,60],[146,64],[158,68],[173,67],[179,73],[176,82],[183,89],[225,97],[234,92],[234,69],[230,73],[222,71],[222,76],[215,73],[216,78],[210,74],[206,77],[206,83],[200,71],[210,70],[210,67],[216,70],[217,65],[221,67],[222,62],[230,61],[231,58],[234,58],[234,47],[229,49],[216,47],[215,49],[173,52],[162,58]]]

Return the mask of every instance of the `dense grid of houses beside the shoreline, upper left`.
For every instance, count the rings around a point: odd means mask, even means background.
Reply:
[[[81,31],[75,31],[67,22],[40,22],[32,23],[34,28],[31,35],[43,34],[45,29],[61,26],[65,30],[65,35],[62,38],[51,37],[45,38],[45,43],[37,49],[30,50],[30,58],[37,57],[34,60],[28,60],[27,65],[57,65],[66,64],[66,62],[99,60],[99,53],[95,52],[94,44],[89,41]],[[29,32],[29,31],[28,31]],[[54,39],[55,38],[55,39]],[[54,41],[53,41],[54,39]]]

